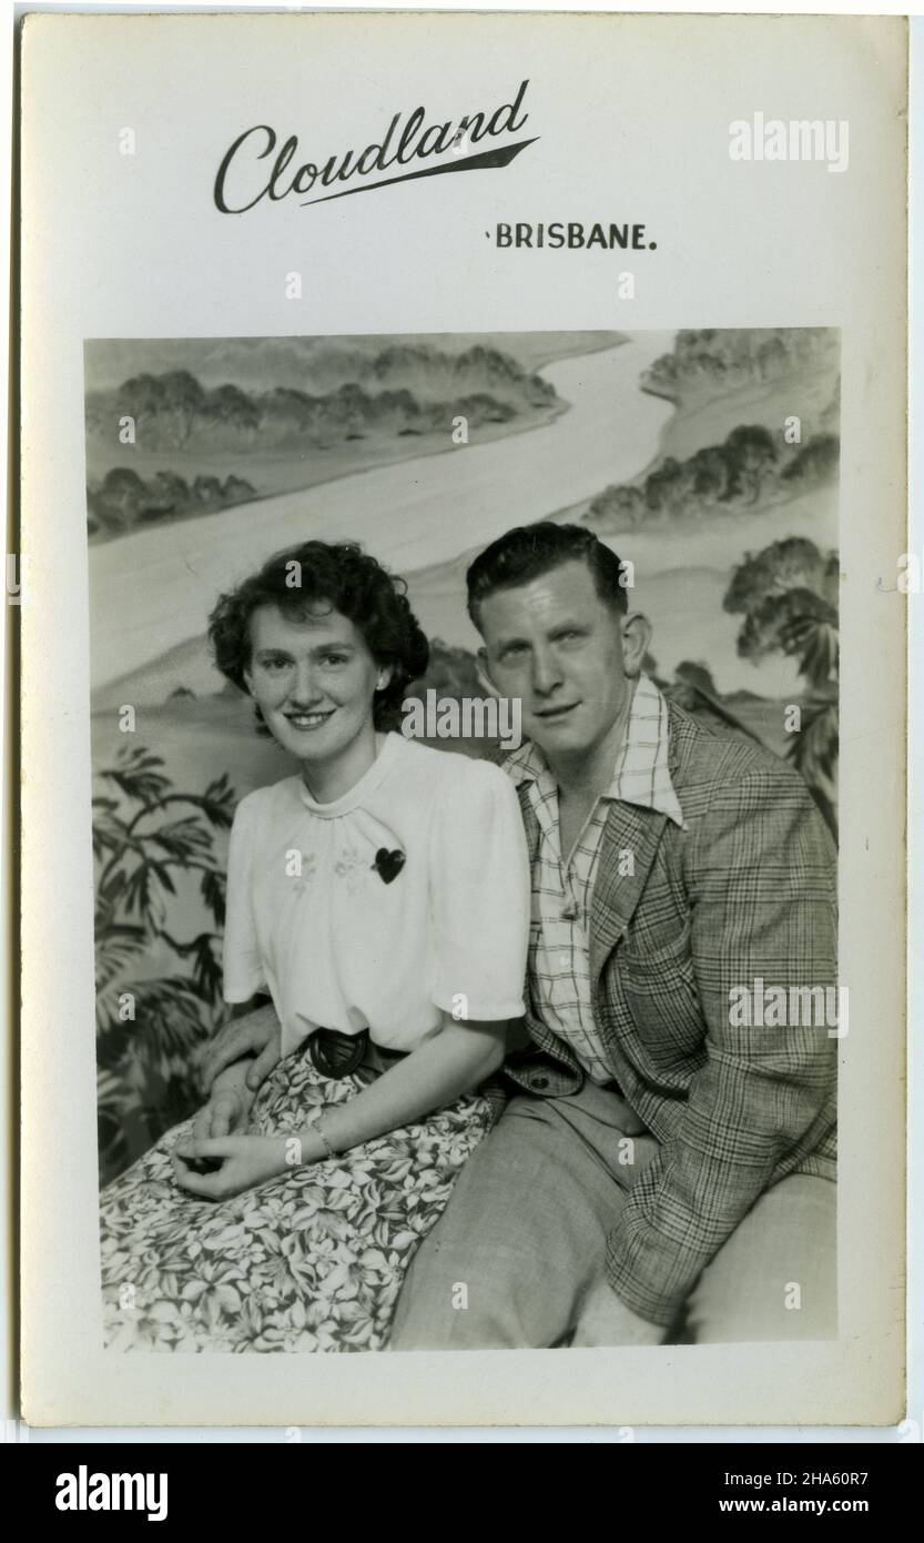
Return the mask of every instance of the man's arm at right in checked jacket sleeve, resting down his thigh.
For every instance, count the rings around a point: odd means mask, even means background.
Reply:
[[[719,788],[690,842],[686,886],[706,1062],[606,1250],[614,1291],[662,1325],[764,1190],[818,1148],[836,1109],[836,1038],[824,1009],[813,1021],[818,994],[813,1011],[790,995],[836,984],[835,847],[801,778],[760,767]],[[785,992],[776,1025],[773,988]]]

